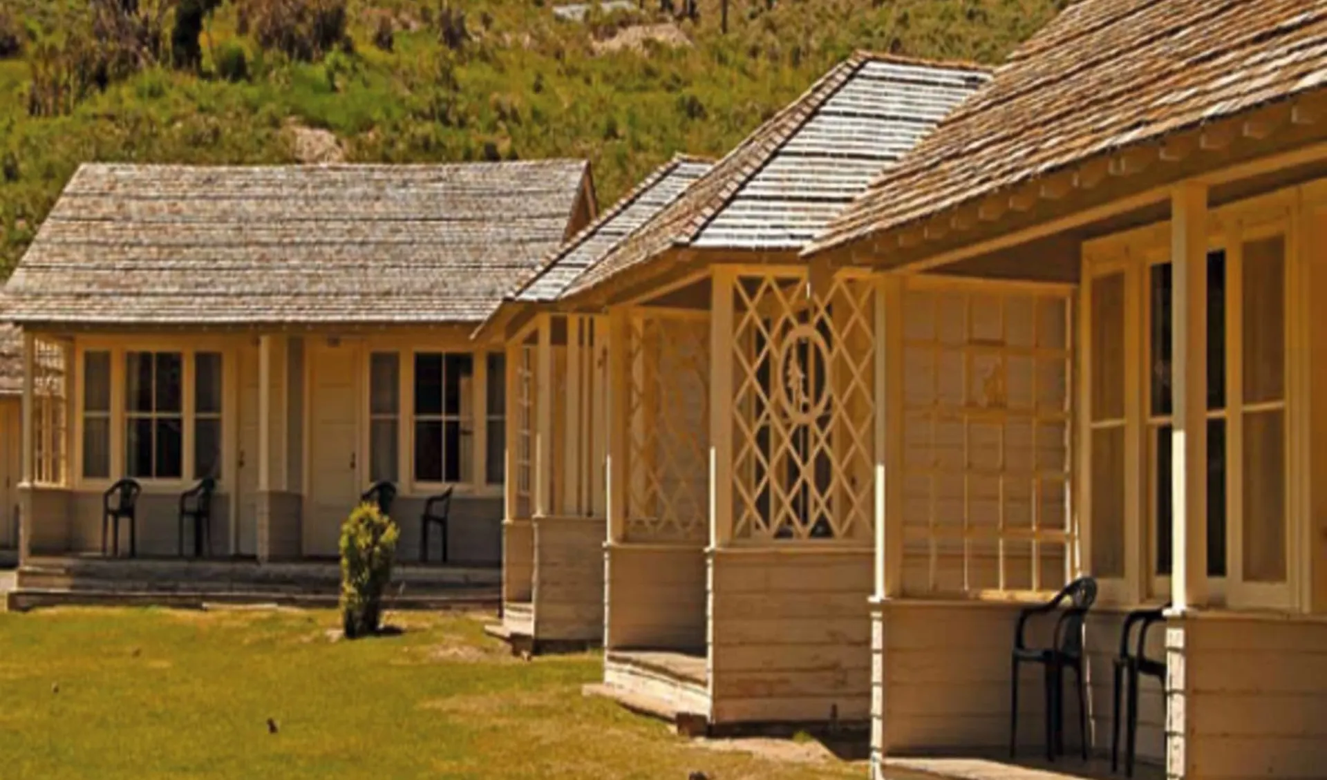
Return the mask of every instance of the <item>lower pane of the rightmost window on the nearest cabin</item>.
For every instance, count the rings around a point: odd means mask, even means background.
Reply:
[[[1243,578],[1285,582],[1285,413],[1246,414],[1243,421]]]

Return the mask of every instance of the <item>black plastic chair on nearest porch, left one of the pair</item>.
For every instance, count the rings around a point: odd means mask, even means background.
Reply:
[[[1066,601],[1070,606],[1060,610]],[[1023,663],[1040,663],[1046,670],[1046,757],[1054,761],[1064,752],[1064,670],[1078,678],[1079,736],[1083,760],[1087,760],[1087,683],[1083,675],[1083,623],[1096,602],[1096,580],[1082,577],[1064,586],[1051,601],[1019,613],[1014,633],[1013,679],[1010,683],[1009,755],[1018,751],[1018,671]],[[1059,612],[1050,647],[1028,647],[1024,637],[1027,621],[1035,616]]]

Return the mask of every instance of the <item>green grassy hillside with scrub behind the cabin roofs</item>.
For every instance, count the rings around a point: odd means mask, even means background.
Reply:
[[[726,34],[721,0],[585,23],[556,20],[563,0],[349,0],[353,45],[260,45],[252,8],[342,1],[0,0],[0,52],[7,29],[20,46],[0,58],[0,277],[80,162],[292,162],[318,129],[357,162],[585,157],[606,203],[674,151],[722,154],[855,49],[998,62],[1068,0],[731,0]],[[107,37],[89,3],[161,7],[163,50],[78,89],[66,72]],[[173,15],[214,3],[178,66]]]

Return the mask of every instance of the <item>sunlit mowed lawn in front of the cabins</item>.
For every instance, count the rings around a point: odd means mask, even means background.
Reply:
[[[0,614],[0,775],[865,776],[861,764],[775,761],[673,736],[581,695],[597,655],[511,658],[480,616],[389,619],[405,631],[334,642],[330,612]]]

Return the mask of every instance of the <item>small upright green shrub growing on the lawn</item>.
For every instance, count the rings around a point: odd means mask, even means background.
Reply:
[[[398,536],[397,524],[373,504],[360,504],[341,525],[341,622],[348,639],[376,634],[382,625]]]

